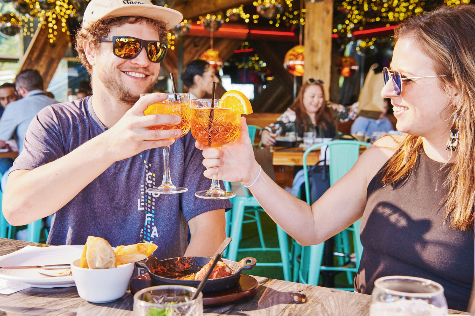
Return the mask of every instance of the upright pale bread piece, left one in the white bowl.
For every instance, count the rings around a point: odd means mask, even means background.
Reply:
[[[89,236],[85,246],[89,269],[115,268],[115,253],[104,238]]]

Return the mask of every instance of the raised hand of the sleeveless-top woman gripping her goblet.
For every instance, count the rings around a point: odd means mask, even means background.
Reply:
[[[204,176],[212,179],[218,175],[219,180],[241,182],[249,185],[254,181],[259,172],[259,165],[254,158],[251,139],[247,131],[246,119],[241,118],[241,134],[239,138],[218,148],[210,148],[200,142],[196,142],[196,148],[203,150]]]

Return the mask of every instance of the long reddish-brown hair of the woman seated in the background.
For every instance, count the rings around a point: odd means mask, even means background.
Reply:
[[[296,123],[305,124],[307,122],[307,112],[304,106],[304,93],[310,85],[318,85],[321,87],[323,92],[323,100],[325,100],[325,90],[323,89],[323,84],[320,84],[320,81],[317,81],[313,84],[305,82],[300,88],[294,102],[292,102],[292,105],[290,106],[290,109],[295,111]],[[325,103],[326,101],[323,101],[322,107],[315,113],[315,120],[317,126],[322,126],[324,129],[327,129],[330,124],[334,123],[334,117],[333,110],[326,106]]]

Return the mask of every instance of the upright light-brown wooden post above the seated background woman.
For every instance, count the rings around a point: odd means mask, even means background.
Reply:
[[[304,82],[308,78],[325,82],[328,98],[332,69],[333,0],[307,2],[305,5]]]

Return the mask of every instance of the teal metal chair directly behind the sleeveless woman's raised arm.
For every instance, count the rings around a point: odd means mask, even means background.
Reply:
[[[344,174],[346,174],[354,165],[360,154],[360,146],[369,147],[371,144],[356,141],[356,140],[333,140],[330,142],[325,142],[321,144],[315,144],[309,147],[304,152],[304,177],[305,177],[305,193],[307,198],[307,203],[310,204],[310,187],[308,181],[308,167],[306,164],[306,159],[308,154],[317,148],[322,146],[328,146],[330,153],[330,186],[338,181]],[[318,245],[312,245],[307,247],[301,247],[301,262],[298,268],[298,278],[294,277],[294,280],[297,279],[301,283],[318,285],[318,280],[320,277],[320,271],[331,270],[331,271],[345,271],[347,273],[347,278],[349,284],[352,284],[352,273],[358,271],[360,264],[361,253],[363,246],[360,241],[360,221],[358,220],[352,224],[348,229],[339,233],[336,237],[337,251],[349,255],[351,253],[351,246],[349,242],[348,233],[353,235],[353,250],[356,257],[355,267],[342,267],[344,258],[339,257],[338,263],[339,267],[325,267],[322,266],[322,256],[323,256],[323,247],[324,242]],[[340,247],[340,249],[338,249]],[[295,263],[295,261],[294,261]],[[294,273],[296,273],[297,268],[294,268]],[[341,288],[346,290],[353,290],[353,288]]]

